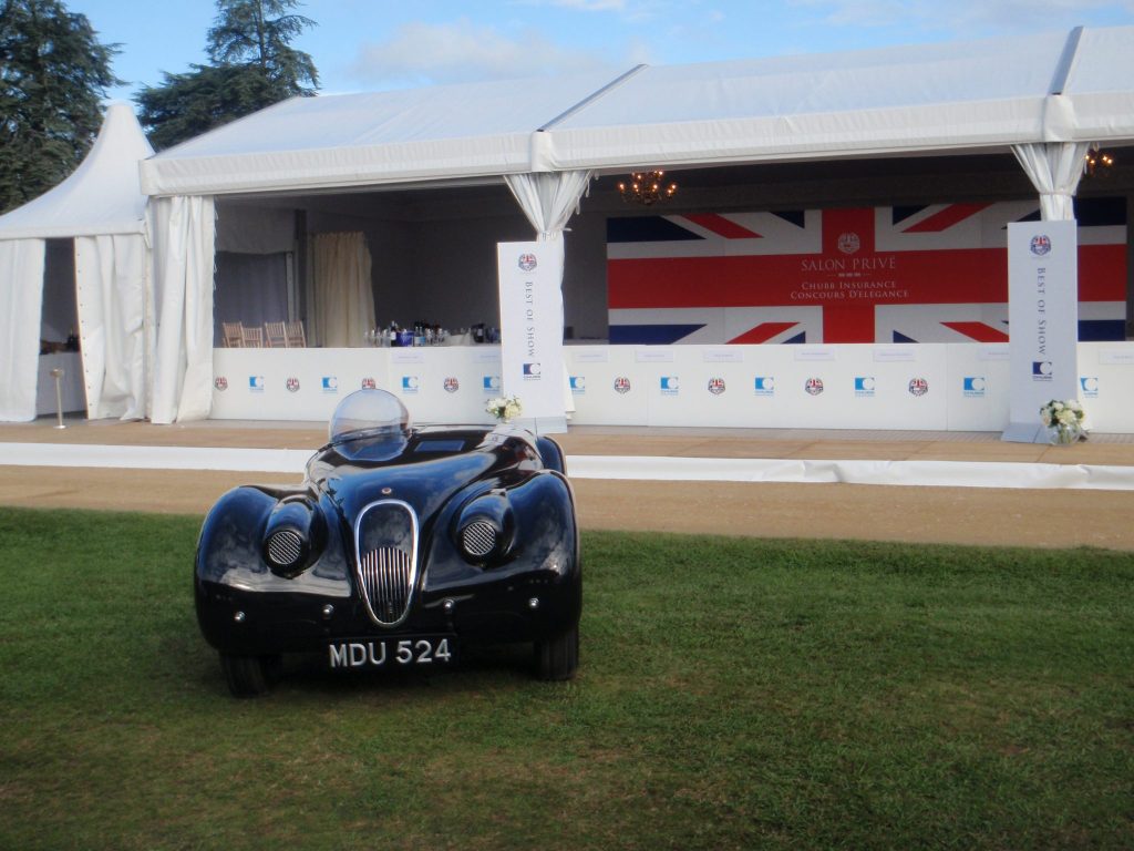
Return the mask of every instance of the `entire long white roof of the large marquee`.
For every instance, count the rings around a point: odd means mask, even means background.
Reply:
[[[1134,27],[295,99],[142,165],[154,195],[1134,138]]]

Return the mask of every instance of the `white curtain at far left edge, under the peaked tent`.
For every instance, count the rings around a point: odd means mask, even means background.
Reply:
[[[35,419],[43,239],[0,241],[0,420]]]

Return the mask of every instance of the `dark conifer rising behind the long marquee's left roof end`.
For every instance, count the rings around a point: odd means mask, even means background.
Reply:
[[[151,144],[162,150],[272,103],[315,94],[315,64],[289,44],[315,22],[288,14],[296,6],[297,0],[217,0],[208,44],[213,65],[163,74],[162,85],[135,96]]]

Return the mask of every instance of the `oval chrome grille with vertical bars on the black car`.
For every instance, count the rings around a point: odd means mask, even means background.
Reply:
[[[355,523],[358,588],[371,620],[397,626],[409,613],[417,580],[417,516],[405,503],[367,505]]]

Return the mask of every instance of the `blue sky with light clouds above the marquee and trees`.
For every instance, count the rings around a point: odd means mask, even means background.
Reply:
[[[128,83],[113,99],[208,62],[212,0],[66,5],[119,44],[113,71]],[[1134,24],[1134,0],[307,0],[297,11],[318,23],[294,44],[329,94]]]

